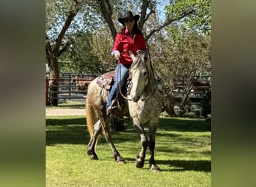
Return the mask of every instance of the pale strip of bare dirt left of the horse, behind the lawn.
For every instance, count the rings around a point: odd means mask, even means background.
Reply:
[[[46,108],[46,116],[85,115],[85,108]]]

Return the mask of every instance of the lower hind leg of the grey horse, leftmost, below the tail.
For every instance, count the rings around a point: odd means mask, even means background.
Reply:
[[[101,126],[100,120],[98,120],[97,123],[95,123],[94,125],[94,133],[91,136],[91,139],[88,144],[88,150],[87,150],[88,156],[90,156],[90,158],[93,160],[98,159],[98,156],[95,153],[95,144],[97,142],[98,135],[100,135],[101,129],[102,129],[102,126]]]

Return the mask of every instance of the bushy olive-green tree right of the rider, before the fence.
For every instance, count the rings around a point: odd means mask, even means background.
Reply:
[[[182,89],[183,93],[189,94],[191,78],[201,76],[206,64],[210,64],[211,41],[207,35],[196,30],[181,30],[178,25],[171,25],[168,31],[160,32],[153,41],[150,40],[154,44],[151,43],[153,47],[150,47],[150,57],[156,74],[162,79],[165,105],[170,108],[174,106],[174,80],[186,76],[186,86]],[[186,94],[183,98],[186,98]]]

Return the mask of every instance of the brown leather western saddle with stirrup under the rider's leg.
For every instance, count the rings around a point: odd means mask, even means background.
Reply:
[[[100,86],[100,88],[103,88],[106,90],[107,95],[109,96],[109,92],[111,91],[112,85],[114,85],[115,82],[115,70],[105,73],[101,75],[97,79],[97,85]],[[132,88],[131,79],[127,79],[124,87],[121,88],[121,92],[124,96],[127,96]],[[118,88],[118,94],[115,97],[115,99],[112,102],[111,107],[115,108],[112,110],[112,114],[117,117],[118,119],[123,119],[124,115],[128,116],[128,110],[126,110],[126,100],[124,99],[124,96],[122,96],[120,93],[120,90]]]

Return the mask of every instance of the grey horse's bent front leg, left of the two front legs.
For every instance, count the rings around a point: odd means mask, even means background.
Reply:
[[[135,158],[135,166],[136,168],[143,168],[146,150],[148,146],[147,136],[145,135],[143,126],[141,126],[141,123],[139,123],[138,120],[133,120],[133,125],[135,126],[135,129],[138,132],[138,134],[141,136],[142,145],[141,152],[139,152]]]

